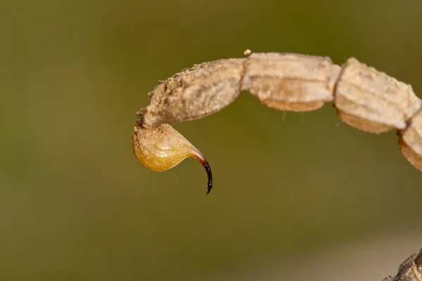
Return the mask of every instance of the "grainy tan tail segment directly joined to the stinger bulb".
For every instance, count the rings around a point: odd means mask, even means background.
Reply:
[[[232,103],[240,93],[245,58],[216,60],[174,74],[148,93],[142,126],[205,117]]]

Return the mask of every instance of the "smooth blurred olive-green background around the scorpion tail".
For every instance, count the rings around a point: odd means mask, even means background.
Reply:
[[[0,0],[0,280],[394,273],[422,247],[422,173],[395,132],[242,93],[174,125],[211,164],[209,196],[198,162],[149,171],[131,134],[159,79],[246,48],[354,56],[422,97],[421,27],[420,0]]]

